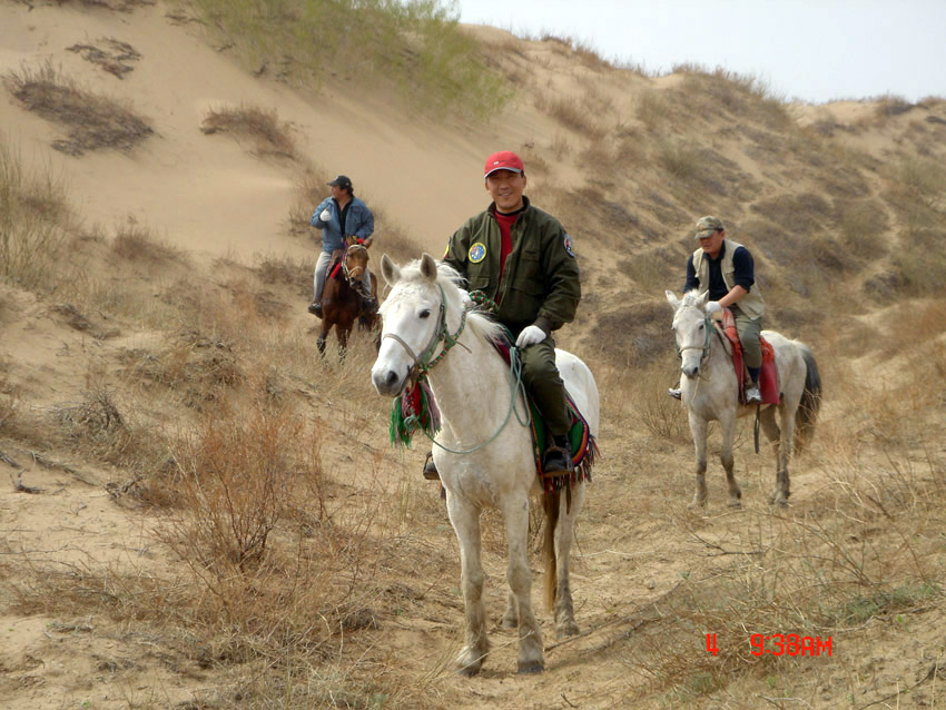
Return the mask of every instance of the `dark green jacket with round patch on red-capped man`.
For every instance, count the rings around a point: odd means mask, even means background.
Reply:
[[[525,208],[510,228],[512,253],[502,279],[495,204],[456,230],[443,260],[460,272],[470,290],[482,290],[496,302],[496,319],[513,334],[532,324],[551,333],[574,319],[581,300],[578,263],[559,220],[533,207],[528,197],[523,201]]]

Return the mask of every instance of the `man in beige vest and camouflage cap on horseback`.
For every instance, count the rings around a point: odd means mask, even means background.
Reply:
[[[718,217],[700,217],[694,236],[700,247],[687,262],[687,284],[683,286],[683,293],[694,288],[699,289],[701,295],[709,292],[707,315],[712,316],[723,308],[732,312],[739,342],[742,344],[742,362],[749,371],[746,404],[760,404],[762,396],[759,393],[759,371],[762,367],[762,348],[759,345],[759,333],[762,329],[766,302],[756,285],[752,255],[741,244],[726,239],[726,227]],[[671,397],[680,398],[679,387],[672,387],[667,393]]]

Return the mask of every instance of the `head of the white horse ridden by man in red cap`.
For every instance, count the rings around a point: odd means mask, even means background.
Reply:
[[[395,396],[415,367],[432,357],[443,328],[456,331],[464,302],[456,272],[430,254],[403,268],[385,254],[381,274],[391,293],[380,312],[384,326],[372,382],[378,394]]]

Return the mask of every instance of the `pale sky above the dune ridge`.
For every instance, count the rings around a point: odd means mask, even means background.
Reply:
[[[946,0],[456,0],[460,21],[668,73],[722,67],[810,102],[946,98]]]

